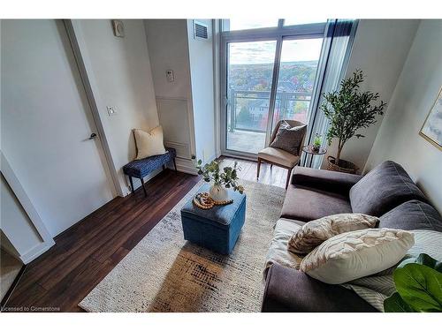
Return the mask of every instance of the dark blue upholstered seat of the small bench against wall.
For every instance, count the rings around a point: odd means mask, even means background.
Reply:
[[[177,152],[174,148],[166,148],[166,154],[149,156],[145,159],[135,160],[127,163],[123,167],[123,172],[127,176],[142,178],[149,175],[150,172],[160,168],[162,165],[170,162],[177,156]]]

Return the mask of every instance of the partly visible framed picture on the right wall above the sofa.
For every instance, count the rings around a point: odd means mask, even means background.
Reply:
[[[439,88],[436,101],[425,118],[419,134],[442,150],[442,87]]]

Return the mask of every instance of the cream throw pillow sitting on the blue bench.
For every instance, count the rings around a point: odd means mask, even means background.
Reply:
[[[137,147],[137,156],[135,160],[141,160],[149,156],[166,154],[163,142],[163,128],[156,126],[149,132],[140,129],[133,129],[135,144]]]

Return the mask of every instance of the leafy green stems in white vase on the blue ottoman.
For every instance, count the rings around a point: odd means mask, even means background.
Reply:
[[[238,162],[234,162],[233,167],[225,167],[223,171],[220,171],[219,162],[212,161],[202,165],[202,160],[196,162],[196,169],[198,174],[202,175],[202,178],[213,184],[210,186],[210,198],[215,201],[225,201],[228,199],[226,189],[232,188],[233,191],[238,191],[241,194],[244,192],[244,187],[238,184],[237,170]]]

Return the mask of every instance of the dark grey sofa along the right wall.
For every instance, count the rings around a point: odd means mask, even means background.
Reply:
[[[381,228],[442,232],[438,211],[395,162],[383,162],[364,177],[295,167],[264,272],[263,312],[376,312],[354,291],[319,282],[284,262],[291,230],[340,213],[375,215]]]

